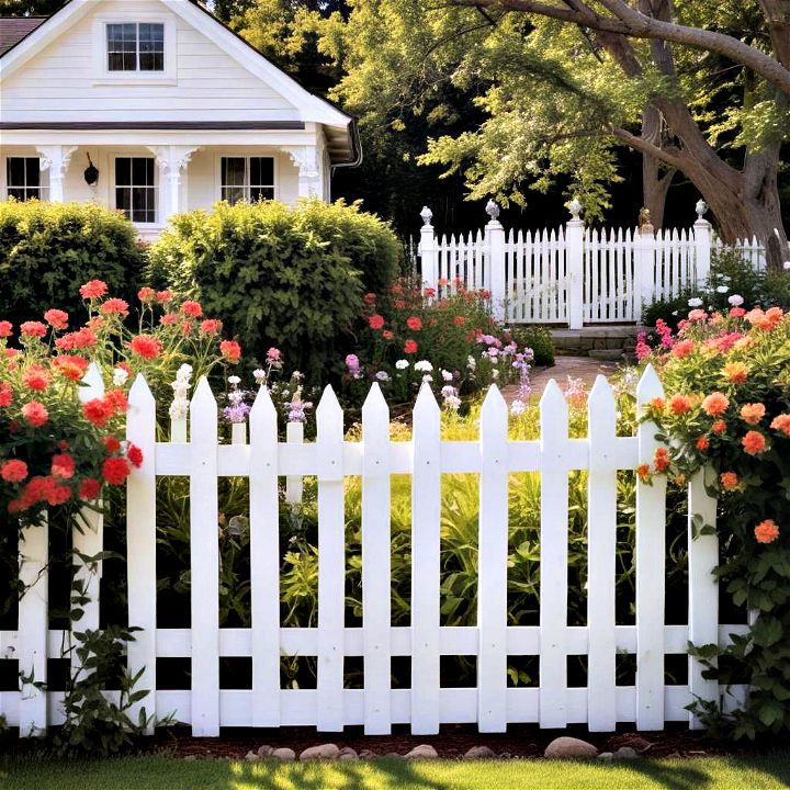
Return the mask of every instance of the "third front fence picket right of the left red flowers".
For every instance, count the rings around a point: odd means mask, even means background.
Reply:
[[[278,415],[266,386],[252,404],[249,427],[252,726],[280,726]]]

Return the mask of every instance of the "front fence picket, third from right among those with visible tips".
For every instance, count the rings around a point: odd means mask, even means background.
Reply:
[[[556,381],[540,399],[540,726],[567,725],[568,408]]]

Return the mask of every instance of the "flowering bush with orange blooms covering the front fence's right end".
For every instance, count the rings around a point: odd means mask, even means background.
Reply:
[[[748,677],[752,691],[743,712],[699,709],[736,737],[755,737],[790,730],[790,314],[747,311],[737,294],[729,303],[712,314],[695,303],[677,335],[658,326],[658,349],[641,342],[637,352],[658,369],[667,397],[648,410],[666,445],[640,474],[685,479],[704,469],[720,498],[723,563],[715,573],[756,617],[723,651],[695,651],[723,686]],[[722,657],[716,669],[713,659]]]

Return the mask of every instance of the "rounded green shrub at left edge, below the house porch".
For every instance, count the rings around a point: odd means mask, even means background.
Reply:
[[[134,226],[90,203],[0,203],[0,315],[41,318],[58,307],[83,317],[75,283],[99,278],[129,298],[144,260]]]

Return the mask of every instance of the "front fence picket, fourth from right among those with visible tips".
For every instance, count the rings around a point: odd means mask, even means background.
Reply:
[[[481,410],[477,726],[507,727],[508,408],[492,384]]]

